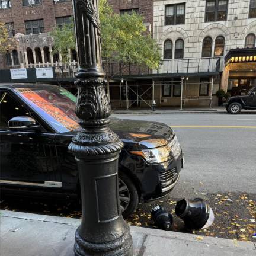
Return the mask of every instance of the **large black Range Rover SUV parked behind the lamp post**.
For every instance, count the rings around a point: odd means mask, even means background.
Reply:
[[[0,84],[0,185],[4,193],[79,195],[68,145],[79,130],[76,97],[55,85]],[[119,158],[123,216],[140,199],[158,199],[177,184],[184,155],[169,126],[111,119],[124,142]]]

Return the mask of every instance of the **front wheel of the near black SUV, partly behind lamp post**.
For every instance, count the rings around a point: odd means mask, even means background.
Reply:
[[[119,197],[120,208],[124,219],[132,215],[135,212],[137,205],[139,204],[139,194],[132,180],[119,171]],[[128,200],[129,199],[129,200]]]

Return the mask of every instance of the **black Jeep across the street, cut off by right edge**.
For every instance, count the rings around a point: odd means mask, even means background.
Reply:
[[[256,87],[252,87],[247,95],[229,97],[223,105],[230,114],[239,114],[242,109],[256,110]]]

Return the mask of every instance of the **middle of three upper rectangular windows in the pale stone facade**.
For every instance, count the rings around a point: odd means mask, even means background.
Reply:
[[[228,0],[206,0],[206,22],[226,20],[227,12]]]

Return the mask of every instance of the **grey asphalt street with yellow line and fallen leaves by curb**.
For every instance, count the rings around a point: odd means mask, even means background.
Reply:
[[[185,168],[174,190],[163,199],[140,203],[127,219],[130,225],[157,228],[151,220],[156,204],[174,218],[172,231],[189,232],[175,216],[183,198],[203,198],[215,213],[215,222],[197,235],[256,240],[256,113],[232,116],[226,113],[177,113],[113,115],[123,119],[148,120],[172,127],[185,152]],[[1,209],[81,217],[81,206],[71,201],[8,198]],[[190,231],[191,232],[191,231]]]

